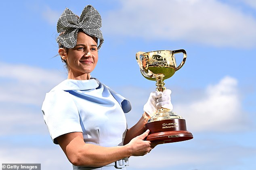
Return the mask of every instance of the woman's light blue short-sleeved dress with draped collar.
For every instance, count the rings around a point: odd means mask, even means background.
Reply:
[[[42,104],[44,121],[55,144],[60,135],[82,132],[85,143],[103,147],[123,145],[127,130],[124,113],[130,110],[131,104],[126,98],[95,78],[64,80],[46,93]],[[112,170],[116,167],[73,166],[73,169]]]

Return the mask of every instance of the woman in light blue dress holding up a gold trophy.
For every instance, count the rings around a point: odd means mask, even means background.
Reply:
[[[131,110],[130,102],[90,75],[103,43],[100,27],[101,16],[90,5],[80,17],[64,10],[57,42],[68,76],[46,94],[42,105],[53,142],[75,170],[126,169],[128,157],[143,156],[163,143],[143,140],[149,134],[144,126],[158,108],[172,107],[170,90],[152,92],[141,119],[127,128],[124,113]]]

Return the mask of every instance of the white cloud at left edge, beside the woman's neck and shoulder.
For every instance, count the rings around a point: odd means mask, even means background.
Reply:
[[[0,63],[0,101],[41,105],[45,93],[63,81],[64,75],[26,65]]]

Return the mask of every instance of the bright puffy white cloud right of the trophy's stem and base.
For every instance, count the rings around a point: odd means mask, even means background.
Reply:
[[[174,108],[183,114],[191,131],[235,131],[250,125],[241,102],[237,80],[225,77],[218,84],[209,85],[201,99],[179,103]]]

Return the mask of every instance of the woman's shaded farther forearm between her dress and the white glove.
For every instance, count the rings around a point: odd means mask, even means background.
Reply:
[[[124,138],[124,145],[129,143],[134,137],[141,135],[146,131],[145,124],[149,119],[150,119],[150,116],[146,112],[144,112],[141,119],[133,127],[131,127],[126,131],[126,135]]]

